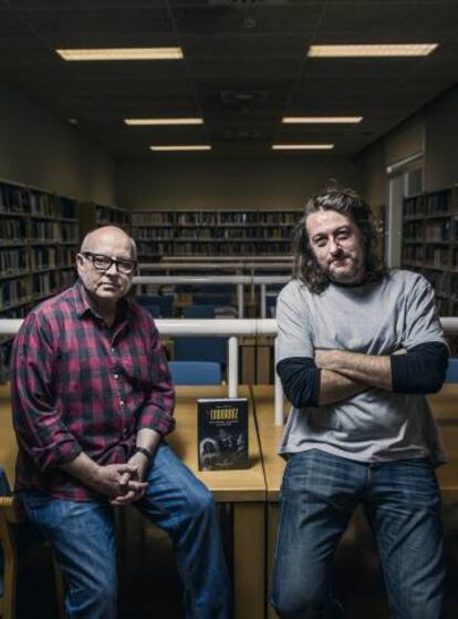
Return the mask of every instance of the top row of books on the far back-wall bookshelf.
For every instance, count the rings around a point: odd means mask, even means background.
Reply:
[[[133,226],[259,226],[287,225],[293,226],[301,213],[295,210],[261,212],[261,210],[191,210],[191,212],[134,212]]]

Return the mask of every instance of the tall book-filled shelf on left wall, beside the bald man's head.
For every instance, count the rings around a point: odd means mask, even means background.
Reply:
[[[0,318],[23,318],[74,281],[76,203],[0,182]],[[0,373],[9,339],[0,336]]]

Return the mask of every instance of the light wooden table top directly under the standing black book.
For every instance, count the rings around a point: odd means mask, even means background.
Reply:
[[[248,398],[250,401],[248,442],[251,467],[241,471],[198,471],[198,398],[227,398],[227,386],[177,386],[177,429],[170,434],[169,444],[195,475],[210,488],[215,501],[264,501],[266,481],[249,388],[242,385],[239,389],[239,398]]]

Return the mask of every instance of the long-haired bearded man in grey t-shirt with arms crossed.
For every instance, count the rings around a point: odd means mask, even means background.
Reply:
[[[371,209],[352,189],[308,202],[293,272],[277,308],[277,371],[292,410],[272,605],[288,619],[343,616],[331,566],[361,504],[392,617],[443,618],[434,467],[445,456],[425,394],[444,382],[448,347],[431,286],[383,266]]]

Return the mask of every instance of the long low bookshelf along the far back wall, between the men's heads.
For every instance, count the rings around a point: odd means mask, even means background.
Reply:
[[[291,251],[301,210],[133,210],[140,262],[162,256],[275,256]]]

